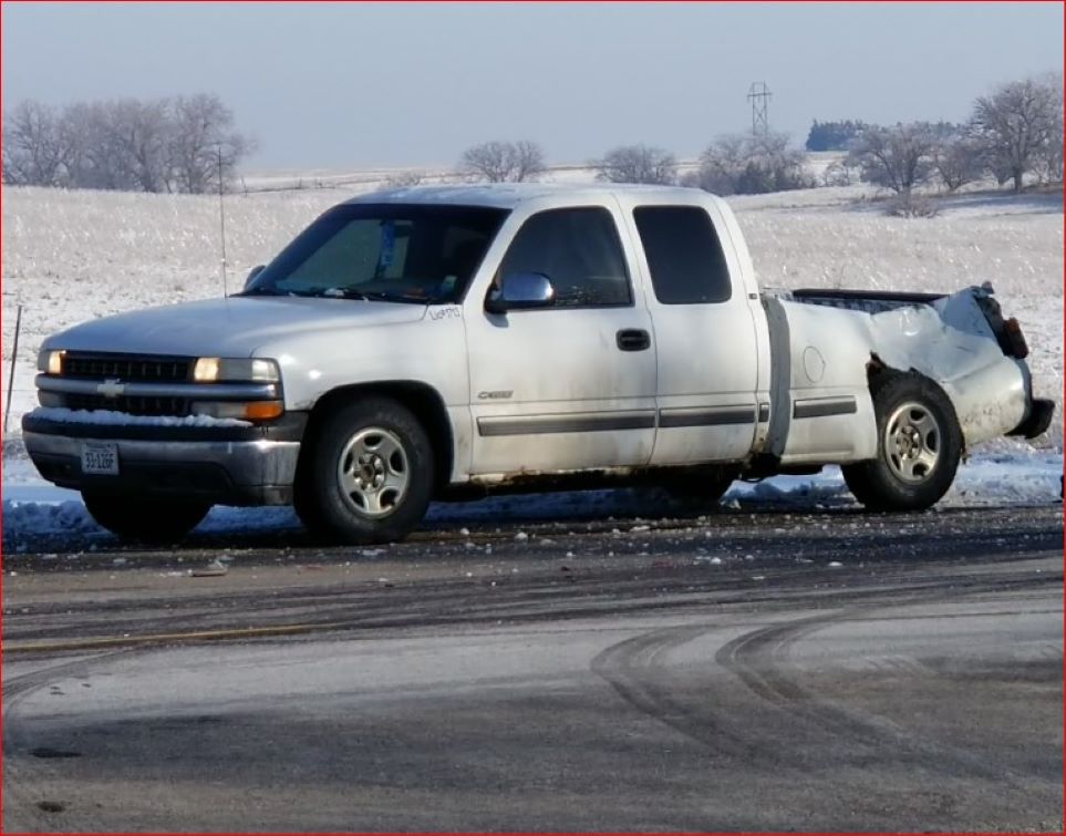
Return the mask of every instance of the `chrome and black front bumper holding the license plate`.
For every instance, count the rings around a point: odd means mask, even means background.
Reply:
[[[27,415],[22,438],[41,475],[75,491],[197,498],[221,505],[292,502],[306,414],[262,427],[111,426]],[[82,473],[87,441],[114,443],[118,475]]]

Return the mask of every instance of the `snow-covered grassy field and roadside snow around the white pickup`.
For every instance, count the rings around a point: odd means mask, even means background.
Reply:
[[[297,231],[352,194],[372,190],[397,172],[360,176],[279,173],[249,178],[247,194],[226,197],[228,287],[270,259]],[[550,177],[590,182],[582,166]],[[307,186],[283,189],[293,182]],[[321,184],[323,187],[311,187]],[[883,203],[862,186],[731,198],[760,281],[768,287],[951,291],[991,281],[1007,316],[1016,316],[1031,347],[1037,395],[1063,393],[1062,194],[971,192],[941,203],[929,219],[888,217]],[[2,192],[2,359],[4,394],[17,306],[23,306],[11,434],[35,405],[37,351],[48,334],[121,311],[221,296],[218,198],[4,187]],[[960,472],[951,504],[1057,502],[1063,467],[1060,409],[1036,444],[997,442],[974,451]],[[73,495],[48,488],[25,460],[4,458],[4,547],[20,531],[97,530]],[[839,473],[736,485],[727,502],[788,500],[850,504]],[[558,516],[570,513],[640,514],[646,494],[592,492],[531,499],[496,499],[439,506],[441,522],[488,518],[506,510]],[[659,504],[670,514],[669,503]],[[216,509],[208,528],[296,525],[280,509]]]

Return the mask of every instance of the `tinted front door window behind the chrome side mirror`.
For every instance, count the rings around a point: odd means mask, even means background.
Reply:
[[[539,272],[555,287],[555,307],[632,305],[629,271],[614,218],[598,206],[549,209],[518,230],[497,278]]]

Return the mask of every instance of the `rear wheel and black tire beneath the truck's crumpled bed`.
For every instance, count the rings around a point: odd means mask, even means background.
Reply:
[[[845,465],[844,479],[870,510],[922,510],[954,482],[962,430],[951,401],[928,378],[893,374],[873,391],[877,458]]]

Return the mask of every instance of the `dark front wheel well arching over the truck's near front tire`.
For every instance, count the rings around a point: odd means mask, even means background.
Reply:
[[[308,417],[303,431],[304,444],[300,451],[300,464],[304,461],[304,451],[314,443],[317,431],[322,420],[341,404],[350,403],[353,399],[365,395],[391,398],[406,406],[422,423],[429,444],[436,457],[435,492],[448,484],[452,478],[454,444],[452,424],[447,409],[441,395],[429,385],[415,381],[390,381],[381,383],[360,383],[351,386],[340,386],[330,390],[319,398]],[[297,467],[297,481],[300,478],[301,467]]]

